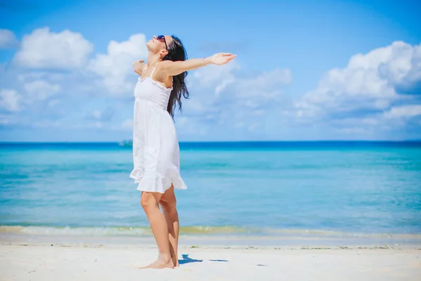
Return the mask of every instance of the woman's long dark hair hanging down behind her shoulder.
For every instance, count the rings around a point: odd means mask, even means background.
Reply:
[[[168,44],[168,54],[163,58],[163,60],[187,60],[187,52],[184,46],[178,37],[171,35],[173,41]],[[181,109],[181,97],[189,98],[189,91],[185,83],[185,78],[187,77],[187,71],[173,76],[173,90],[171,91],[170,100],[168,101],[167,111],[174,119],[174,110],[178,104],[178,110]]]

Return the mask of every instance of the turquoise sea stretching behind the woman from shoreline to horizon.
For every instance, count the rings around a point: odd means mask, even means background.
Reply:
[[[180,149],[184,235],[421,235],[421,142]],[[131,169],[119,143],[0,143],[0,230],[151,235]]]

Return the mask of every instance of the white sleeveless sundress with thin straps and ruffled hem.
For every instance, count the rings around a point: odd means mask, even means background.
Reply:
[[[133,171],[138,190],[164,193],[187,189],[180,177],[180,148],[173,119],[167,111],[171,90],[149,77],[138,78],[133,116]]]

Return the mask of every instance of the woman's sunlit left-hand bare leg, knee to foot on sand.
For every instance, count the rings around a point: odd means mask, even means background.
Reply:
[[[158,259],[149,266],[143,268],[173,268],[174,263],[171,259],[170,243],[168,242],[168,226],[166,218],[159,210],[159,200],[161,200],[162,193],[159,192],[142,192],[140,204],[143,209],[149,224],[152,228],[152,233],[158,245],[159,256]]]

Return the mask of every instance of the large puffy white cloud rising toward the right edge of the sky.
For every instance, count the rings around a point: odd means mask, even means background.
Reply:
[[[396,86],[413,84],[421,75],[419,46],[401,41],[354,55],[347,67],[328,71],[319,86],[297,100],[299,117],[329,117],[353,112],[382,112],[397,100],[405,100]]]

